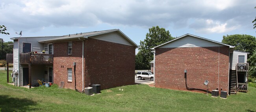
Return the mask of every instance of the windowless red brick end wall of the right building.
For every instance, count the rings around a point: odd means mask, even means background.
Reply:
[[[219,74],[219,89],[228,90],[229,47],[158,48],[155,64],[156,87],[186,90],[186,69],[189,88],[206,90],[208,79],[209,90],[216,89]]]

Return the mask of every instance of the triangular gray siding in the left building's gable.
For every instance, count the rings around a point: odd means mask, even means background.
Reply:
[[[124,38],[118,32],[111,32],[111,33],[106,33],[106,34],[100,34],[100,35],[96,35],[96,36],[91,36],[89,38],[98,39],[98,40],[104,40],[104,41],[113,42],[113,43],[120,43],[120,44],[124,44],[124,45],[134,46],[132,43],[130,43],[128,40],[126,40],[126,38]]]

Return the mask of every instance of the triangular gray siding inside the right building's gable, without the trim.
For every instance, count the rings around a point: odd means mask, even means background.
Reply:
[[[176,48],[176,47],[219,47],[224,46],[219,43],[210,42],[193,36],[186,36],[175,40],[174,42],[167,43],[159,48]]]

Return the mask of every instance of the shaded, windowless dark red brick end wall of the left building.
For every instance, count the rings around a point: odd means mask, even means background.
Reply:
[[[85,87],[101,89],[134,84],[135,47],[96,39],[85,44]]]

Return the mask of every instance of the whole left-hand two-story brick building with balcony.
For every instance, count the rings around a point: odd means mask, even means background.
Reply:
[[[38,85],[38,79],[58,85],[63,81],[65,88],[75,89],[76,87],[79,91],[83,91],[89,84],[100,84],[101,89],[134,84],[135,49],[138,46],[119,29],[40,39],[37,37],[13,38],[13,40],[21,45],[24,43],[23,40],[32,43],[28,45],[28,49],[32,49],[28,52],[32,53],[23,52],[22,54],[28,54],[30,58],[41,57],[42,59],[40,60],[42,64],[38,60],[38,63],[34,63],[31,59],[27,63],[19,61],[14,64],[15,67],[19,65],[20,69],[32,64],[31,81],[29,78],[23,78],[29,76],[29,71],[14,71],[17,74],[19,86],[29,82],[32,85]],[[36,45],[37,49],[35,49]],[[35,53],[43,50],[45,54]],[[21,57],[17,59],[20,60]],[[76,63],[75,66],[74,63]],[[26,84],[19,83],[25,81]]]

